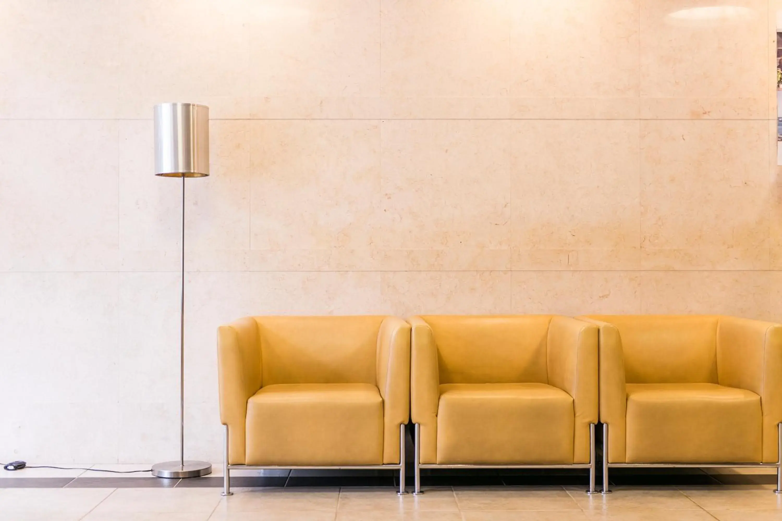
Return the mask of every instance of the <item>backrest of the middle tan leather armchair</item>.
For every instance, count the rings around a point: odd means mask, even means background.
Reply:
[[[440,384],[547,384],[551,315],[421,316],[437,345]]]

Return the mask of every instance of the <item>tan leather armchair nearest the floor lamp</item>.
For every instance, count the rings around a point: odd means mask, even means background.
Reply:
[[[217,332],[225,490],[235,468],[400,469],[410,326],[392,316],[256,316]]]

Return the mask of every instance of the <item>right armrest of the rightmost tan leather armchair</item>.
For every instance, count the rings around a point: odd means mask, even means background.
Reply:
[[[778,424],[782,422],[782,325],[719,317],[717,378],[720,385],[760,396],[763,462],[778,461]]]

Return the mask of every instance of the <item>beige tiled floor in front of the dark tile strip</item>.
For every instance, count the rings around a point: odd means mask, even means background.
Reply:
[[[13,521],[782,521],[769,486],[392,488],[6,488],[0,520]]]

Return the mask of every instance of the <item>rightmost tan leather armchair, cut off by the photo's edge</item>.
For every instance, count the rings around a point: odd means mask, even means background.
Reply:
[[[782,325],[580,318],[600,328],[604,491],[609,466],[775,466],[782,480]]]

